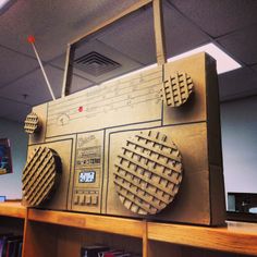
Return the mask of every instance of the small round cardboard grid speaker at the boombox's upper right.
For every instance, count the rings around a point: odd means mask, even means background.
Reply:
[[[163,83],[162,99],[167,106],[180,107],[187,101],[194,85],[189,75],[178,72]]]

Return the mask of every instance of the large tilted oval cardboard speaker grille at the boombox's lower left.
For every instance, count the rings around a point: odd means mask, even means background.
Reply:
[[[24,204],[36,207],[50,198],[60,175],[61,160],[57,152],[47,147],[36,148],[23,170]]]

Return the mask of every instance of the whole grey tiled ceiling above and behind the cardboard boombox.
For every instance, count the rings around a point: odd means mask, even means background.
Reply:
[[[57,97],[61,94],[66,44],[136,0],[16,0],[0,15],[0,117],[23,121],[30,107],[50,100],[33,49],[35,35]],[[215,42],[243,64],[219,76],[221,100],[257,94],[256,0],[163,0],[168,56]],[[88,49],[122,63],[120,73],[155,62],[152,13],[143,9],[88,41]],[[113,77],[84,77],[72,91]]]

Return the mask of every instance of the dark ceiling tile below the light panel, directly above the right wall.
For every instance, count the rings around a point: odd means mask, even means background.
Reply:
[[[248,68],[219,75],[220,99],[229,100],[257,93],[257,73]]]

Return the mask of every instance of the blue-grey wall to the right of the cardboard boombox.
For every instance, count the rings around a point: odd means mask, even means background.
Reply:
[[[221,103],[227,192],[257,193],[257,96]]]

